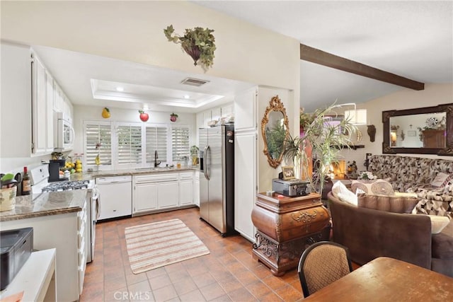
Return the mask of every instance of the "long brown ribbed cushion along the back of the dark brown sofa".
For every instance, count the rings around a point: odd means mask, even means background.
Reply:
[[[357,206],[359,207],[392,213],[410,214],[416,204],[418,204],[418,198],[415,197],[399,197],[382,194],[358,194],[357,196]]]

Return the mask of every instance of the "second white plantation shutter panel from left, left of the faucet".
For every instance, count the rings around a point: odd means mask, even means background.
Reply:
[[[118,124],[116,137],[118,166],[142,163],[142,125]]]

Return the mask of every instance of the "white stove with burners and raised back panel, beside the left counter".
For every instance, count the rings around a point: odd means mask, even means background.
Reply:
[[[69,190],[87,190],[87,244],[86,262],[91,262],[94,259],[94,242],[96,238],[96,221],[98,220],[99,209],[99,194],[94,180],[63,180],[49,182],[49,166],[40,165],[37,168],[30,170],[31,190],[33,199],[38,197],[43,192],[60,192]]]

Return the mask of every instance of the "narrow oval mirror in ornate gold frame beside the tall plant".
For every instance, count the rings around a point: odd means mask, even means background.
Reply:
[[[277,168],[282,163],[283,145],[289,136],[288,117],[278,95],[270,99],[261,120],[261,134],[264,140],[264,155],[271,167]]]

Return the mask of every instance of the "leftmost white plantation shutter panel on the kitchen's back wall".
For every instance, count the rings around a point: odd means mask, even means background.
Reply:
[[[112,165],[112,129],[110,122],[85,122],[85,165],[96,166],[99,156],[103,167]]]

